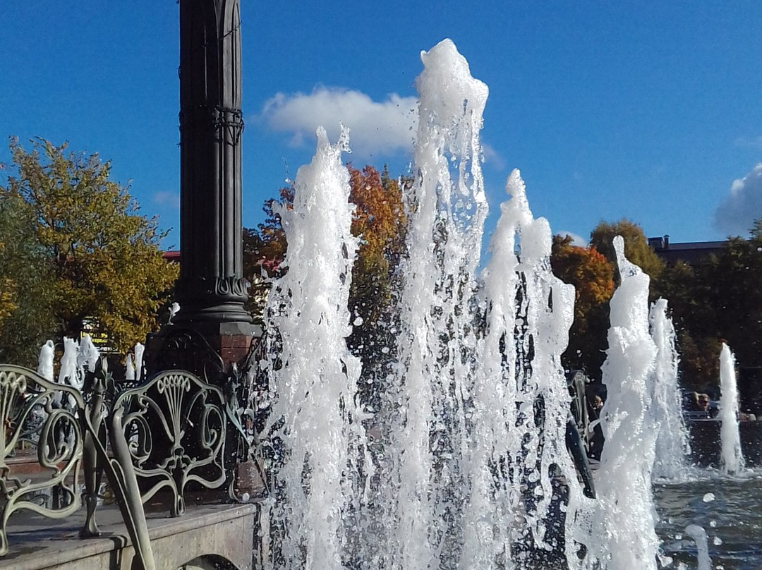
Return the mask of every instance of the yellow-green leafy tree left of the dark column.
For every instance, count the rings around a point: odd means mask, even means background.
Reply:
[[[139,215],[128,187],[109,180],[110,162],[66,152],[66,144],[31,142],[27,152],[11,139],[16,175],[0,198],[27,220],[34,271],[46,290],[40,309],[56,323],[43,336],[78,338],[89,325],[126,351],[155,328],[177,277],[159,249],[165,234],[155,218]]]

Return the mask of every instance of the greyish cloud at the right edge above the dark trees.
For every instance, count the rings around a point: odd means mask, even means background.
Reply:
[[[748,175],[734,180],[730,194],[714,214],[714,226],[727,235],[747,236],[755,219],[762,218],[762,162]]]

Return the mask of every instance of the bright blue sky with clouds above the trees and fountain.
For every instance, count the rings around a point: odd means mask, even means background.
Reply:
[[[406,173],[401,113],[445,37],[490,89],[488,228],[512,168],[536,216],[583,238],[627,217],[709,241],[762,217],[758,0],[467,4],[241,0],[245,226],[309,162],[316,121],[350,126],[355,166]],[[0,22],[0,135],[110,159],[177,247],[175,0],[6,2]]]

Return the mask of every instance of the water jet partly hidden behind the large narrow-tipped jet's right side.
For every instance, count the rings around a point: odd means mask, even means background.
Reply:
[[[682,414],[675,347],[675,332],[668,315],[667,299],[658,299],[648,315],[656,344],[652,413],[658,424],[654,475],[677,479],[685,475],[690,442]]]

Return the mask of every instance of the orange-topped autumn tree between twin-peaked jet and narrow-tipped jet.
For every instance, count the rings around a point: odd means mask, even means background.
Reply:
[[[593,246],[572,245],[568,235],[553,236],[550,263],[556,277],[575,286],[575,318],[562,363],[566,370],[581,369],[599,378],[606,357],[613,264]]]

